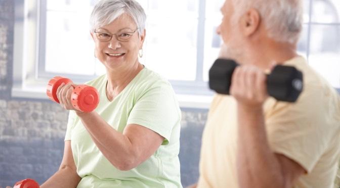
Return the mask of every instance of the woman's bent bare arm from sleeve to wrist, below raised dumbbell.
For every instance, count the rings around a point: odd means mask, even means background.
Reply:
[[[96,112],[77,113],[103,155],[119,170],[130,170],[148,159],[164,137],[138,124],[129,124],[123,133],[112,128]]]

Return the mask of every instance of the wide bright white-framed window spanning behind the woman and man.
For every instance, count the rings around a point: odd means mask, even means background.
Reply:
[[[169,79],[177,93],[210,99],[208,70],[221,44],[216,28],[224,0],[137,1],[147,14],[141,63]],[[304,0],[298,51],[340,88],[340,4],[336,1]],[[27,97],[29,88],[30,97],[45,98],[46,83],[56,75],[81,83],[105,73],[94,57],[89,33],[96,0],[15,2],[14,97]]]

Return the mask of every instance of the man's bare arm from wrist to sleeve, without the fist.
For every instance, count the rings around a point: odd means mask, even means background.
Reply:
[[[305,170],[271,151],[262,109],[238,106],[237,174],[240,187],[291,187]]]

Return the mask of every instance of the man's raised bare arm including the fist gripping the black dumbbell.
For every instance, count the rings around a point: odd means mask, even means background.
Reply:
[[[269,147],[262,109],[268,97],[265,74],[253,66],[237,67],[231,95],[237,100],[240,187],[291,187],[305,169]]]

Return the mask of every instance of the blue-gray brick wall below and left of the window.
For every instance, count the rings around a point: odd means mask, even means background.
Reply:
[[[0,0],[0,187],[24,178],[44,182],[58,168],[68,112],[47,100],[11,98],[14,1]],[[182,109],[182,183],[197,180],[207,110]]]

